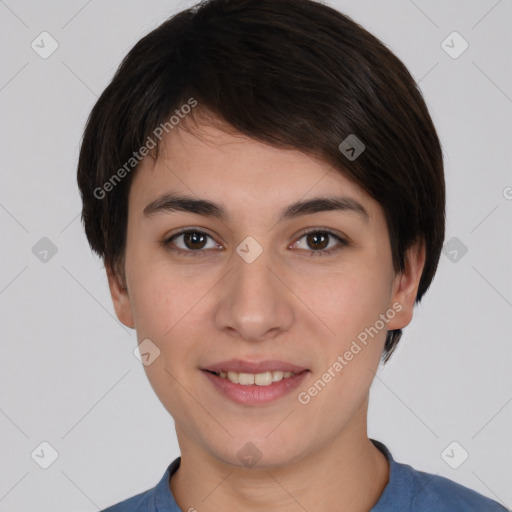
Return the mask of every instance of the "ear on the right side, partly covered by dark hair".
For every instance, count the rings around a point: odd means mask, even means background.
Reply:
[[[413,316],[414,304],[421,274],[425,266],[425,243],[423,240],[415,242],[406,252],[404,270],[395,276],[391,303],[397,311],[392,320],[388,322],[388,329],[402,329],[410,323]],[[398,306],[400,305],[401,308]]]

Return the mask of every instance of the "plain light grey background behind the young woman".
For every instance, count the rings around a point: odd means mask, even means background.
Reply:
[[[0,512],[98,510],[155,485],[179,454],[87,245],[75,173],[87,115],[122,57],[192,3],[0,1]],[[512,507],[512,0],[331,5],[419,81],[455,237],[375,379],[369,435]],[[59,45],[47,59],[31,47],[43,31]],[[453,31],[469,43],[458,58],[441,44]],[[57,248],[46,261],[43,237]],[[43,441],[58,452],[47,469]],[[460,463],[458,445],[442,456],[453,441],[469,453],[457,469],[445,460]]]

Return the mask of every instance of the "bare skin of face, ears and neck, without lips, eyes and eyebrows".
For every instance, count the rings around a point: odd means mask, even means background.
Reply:
[[[404,272],[395,273],[384,212],[362,188],[321,159],[220,128],[205,121],[175,129],[158,159],[141,162],[129,194],[126,286],[107,268],[119,320],[136,329],[139,343],[150,339],[160,350],[144,368],[176,424],[182,460],[171,490],[183,510],[315,512],[343,504],[345,512],[367,511],[389,478],[386,458],[367,436],[386,328],[307,405],[297,394],[394,303],[402,309],[386,327],[410,322],[423,244],[411,247]],[[229,217],[143,215],[171,191],[222,203]],[[369,218],[325,211],[276,222],[290,203],[333,195],[357,200]],[[204,256],[163,245],[185,228],[211,237],[199,249]],[[308,243],[305,228],[330,229],[349,245]],[[235,251],[247,236],[263,248],[250,264]],[[174,247],[194,250],[183,236]],[[339,250],[312,256],[331,248]],[[200,370],[231,358],[280,359],[310,373],[297,391],[245,406],[222,396]],[[237,456],[248,442],[261,452],[252,468]]]

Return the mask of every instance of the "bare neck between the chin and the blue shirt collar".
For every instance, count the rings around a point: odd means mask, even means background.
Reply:
[[[328,445],[277,468],[240,468],[199,448],[176,424],[181,464],[170,487],[182,510],[308,512],[370,510],[389,479],[389,464],[366,434],[364,415]],[[363,424],[361,424],[363,423]],[[362,428],[363,427],[363,428]]]

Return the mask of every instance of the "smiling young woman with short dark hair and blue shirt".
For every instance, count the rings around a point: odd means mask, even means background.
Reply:
[[[78,183],[181,450],[109,512],[505,510],[367,435],[445,219],[436,130],[373,35],[310,0],[173,16],[94,106]]]

